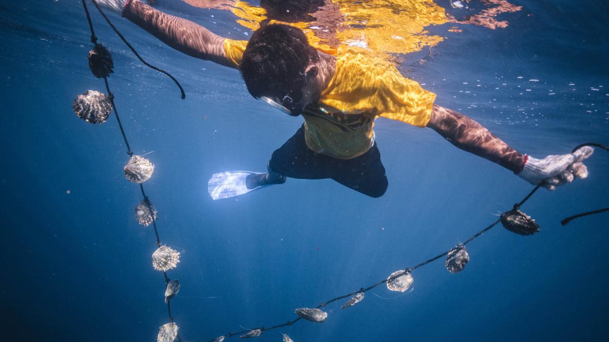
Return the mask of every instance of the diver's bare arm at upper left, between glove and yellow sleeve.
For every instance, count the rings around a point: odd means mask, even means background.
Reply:
[[[224,38],[199,24],[155,10],[138,0],[128,3],[122,15],[177,51],[231,66],[224,53]]]

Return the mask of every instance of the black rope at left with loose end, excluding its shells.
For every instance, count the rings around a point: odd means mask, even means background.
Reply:
[[[91,29],[91,43],[95,44],[95,46],[97,46],[97,37],[95,35],[95,31],[93,29],[93,21],[91,21],[91,16],[89,14],[89,10],[86,7],[86,0],[82,0],[82,5],[83,8],[85,9],[85,13],[86,13],[86,19],[89,23],[89,28]],[[135,52],[135,49],[133,49],[133,47],[131,47],[129,45],[129,43],[127,43],[127,41],[125,41],[125,39],[122,37],[121,33],[118,32],[118,30],[116,30],[116,28],[114,28],[114,26],[110,23],[110,20],[104,15],[104,12],[102,12],[102,10],[99,8],[99,6],[97,6],[97,3],[94,0],[91,0],[93,2],[93,4],[97,7],[97,9],[99,10],[100,13],[102,13],[102,15],[104,16],[104,18],[108,21],[108,23],[110,24],[110,26],[112,26],[112,28],[114,29],[114,31],[116,33],[118,33],[119,37],[122,38],[122,40],[130,47],[130,49],[132,49],[132,51],[138,56],[138,58],[140,60],[142,60],[141,57],[139,57],[138,53]],[[142,60],[144,62],[144,64],[148,65],[144,60]],[[148,65],[150,66],[150,65]],[[158,69],[155,68],[153,66],[150,66],[153,69]],[[163,72],[164,74],[167,74],[167,72],[164,72],[160,69],[158,69],[159,71]],[[169,75],[169,74],[167,74]],[[171,75],[169,75],[169,77],[171,77],[171,79],[174,80],[174,82],[177,83],[178,87],[180,87],[180,91],[182,92],[182,99],[184,99],[185,95],[184,95],[184,91],[181,88],[180,84],[177,82],[177,80],[175,80]],[[130,156],[133,156],[133,152],[131,151],[131,147],[129,145],[129,142],[127,140],[127,134],[125,134],[125,130],[122,127],[122,123],[121,123],[121,117],[119,117],[118,114],[118,110],[116,110],[116,104],[114,103],[114,94],[112,94],[112,92],[110,91],[110,85],[108,84],[108,77],[104,77],[104,83],[106,86],[106,91],[108,92],[108,97],[110,98],[110,103],[112,104],[112,108],[114,110],[114,116],[116,117],[116,122],[118,122],[118,126],[121,129],[121,134],[122,134],[122,139],[125,142],[125,146],[127,147],[127,154]],[[154,232],[155,232],[155,236],[157,237],[157,246],[161,246],[161,239],[158,236],[158,229],[157,229],[157,218],[155,218],[155,214],[152,208],[152,204],[150,203],[150,200],[148,198],[148,196],[146,195],[146,191],[144,190],[144,185],[139,183],[139,189],[141,190],[142,196],[144,197],[144,201],[146,203],[146,206],[150,212],[150,216],[152,217],[152,225],[154,227]],[[167,284],[169,284],[169,282],[171,281],[171,279],[169,279],[169,277],[167,276],[167,272],[163,271],[163,277],[165,279],[165,285],[167,286]],[[169,321],[171,321],[171,323],[175,323],[174,322],[174,317],[171,315],[171,301],[167,301],[167,316],[169,316]],[[181,342],[181,338],[180,338],[180,334],[177,334],[177,339],[178,342]]]

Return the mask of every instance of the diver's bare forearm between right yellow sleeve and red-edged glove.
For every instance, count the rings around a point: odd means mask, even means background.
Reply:
[[[525,156],[505,144],[487,128],[457,111],[434,105],[427,127],[437,131],[456,147],[519,172]]]

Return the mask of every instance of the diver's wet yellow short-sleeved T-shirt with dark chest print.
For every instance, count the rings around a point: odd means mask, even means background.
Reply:
[[[225,40],[225,54],[235,66],[246,45],[247,41]],[[434,93],[403,77],[393,63],[360,47],[341,46],[319,106],[303,111],[305,141],[317,153],[355,158],[373,145],[377,116],[425,127],[434,100]]]

